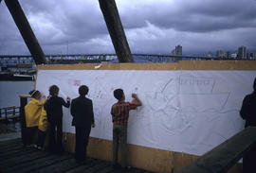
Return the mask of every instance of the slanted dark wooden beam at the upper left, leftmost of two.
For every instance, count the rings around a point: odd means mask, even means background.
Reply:
[[[18,26],[20,33],[27,44],[27,48],[35,63],[46,63],[45,54],[38,43],[18,0],[5,0],[5,2],[16,26]]]

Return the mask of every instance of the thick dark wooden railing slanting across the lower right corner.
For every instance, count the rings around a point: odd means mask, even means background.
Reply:
[[[249,127],[185,165],[175,173],[226,173],[256,145],[256,127]]]

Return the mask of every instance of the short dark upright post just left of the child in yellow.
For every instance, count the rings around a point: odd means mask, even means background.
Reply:
[[[23,145],[26,146],[26,118],[25,118],[25,106],[27,105],[27,98],[30,95],[20,95],[20,116],[21,116],[21,137]]]

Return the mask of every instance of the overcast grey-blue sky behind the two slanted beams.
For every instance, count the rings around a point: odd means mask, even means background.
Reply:
[[[115,53],[98,0],[19,0],[45,54]],[[256,52],[256,0],[116,0],[132,53]],[[68,47],[68,48],[67,48]],[[29,54],[4,0],[0,55]]]

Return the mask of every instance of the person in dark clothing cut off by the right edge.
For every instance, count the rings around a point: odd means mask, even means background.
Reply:
[[[256,78],[254,79],[253,92],[250,95],[246,95],[243,100],[243,105],[240,111],[240,115],[246,120],[247,127],[256,127]],[[256,145],[252,147],[243,157],[243,172],[255,173],[256,172]]]

